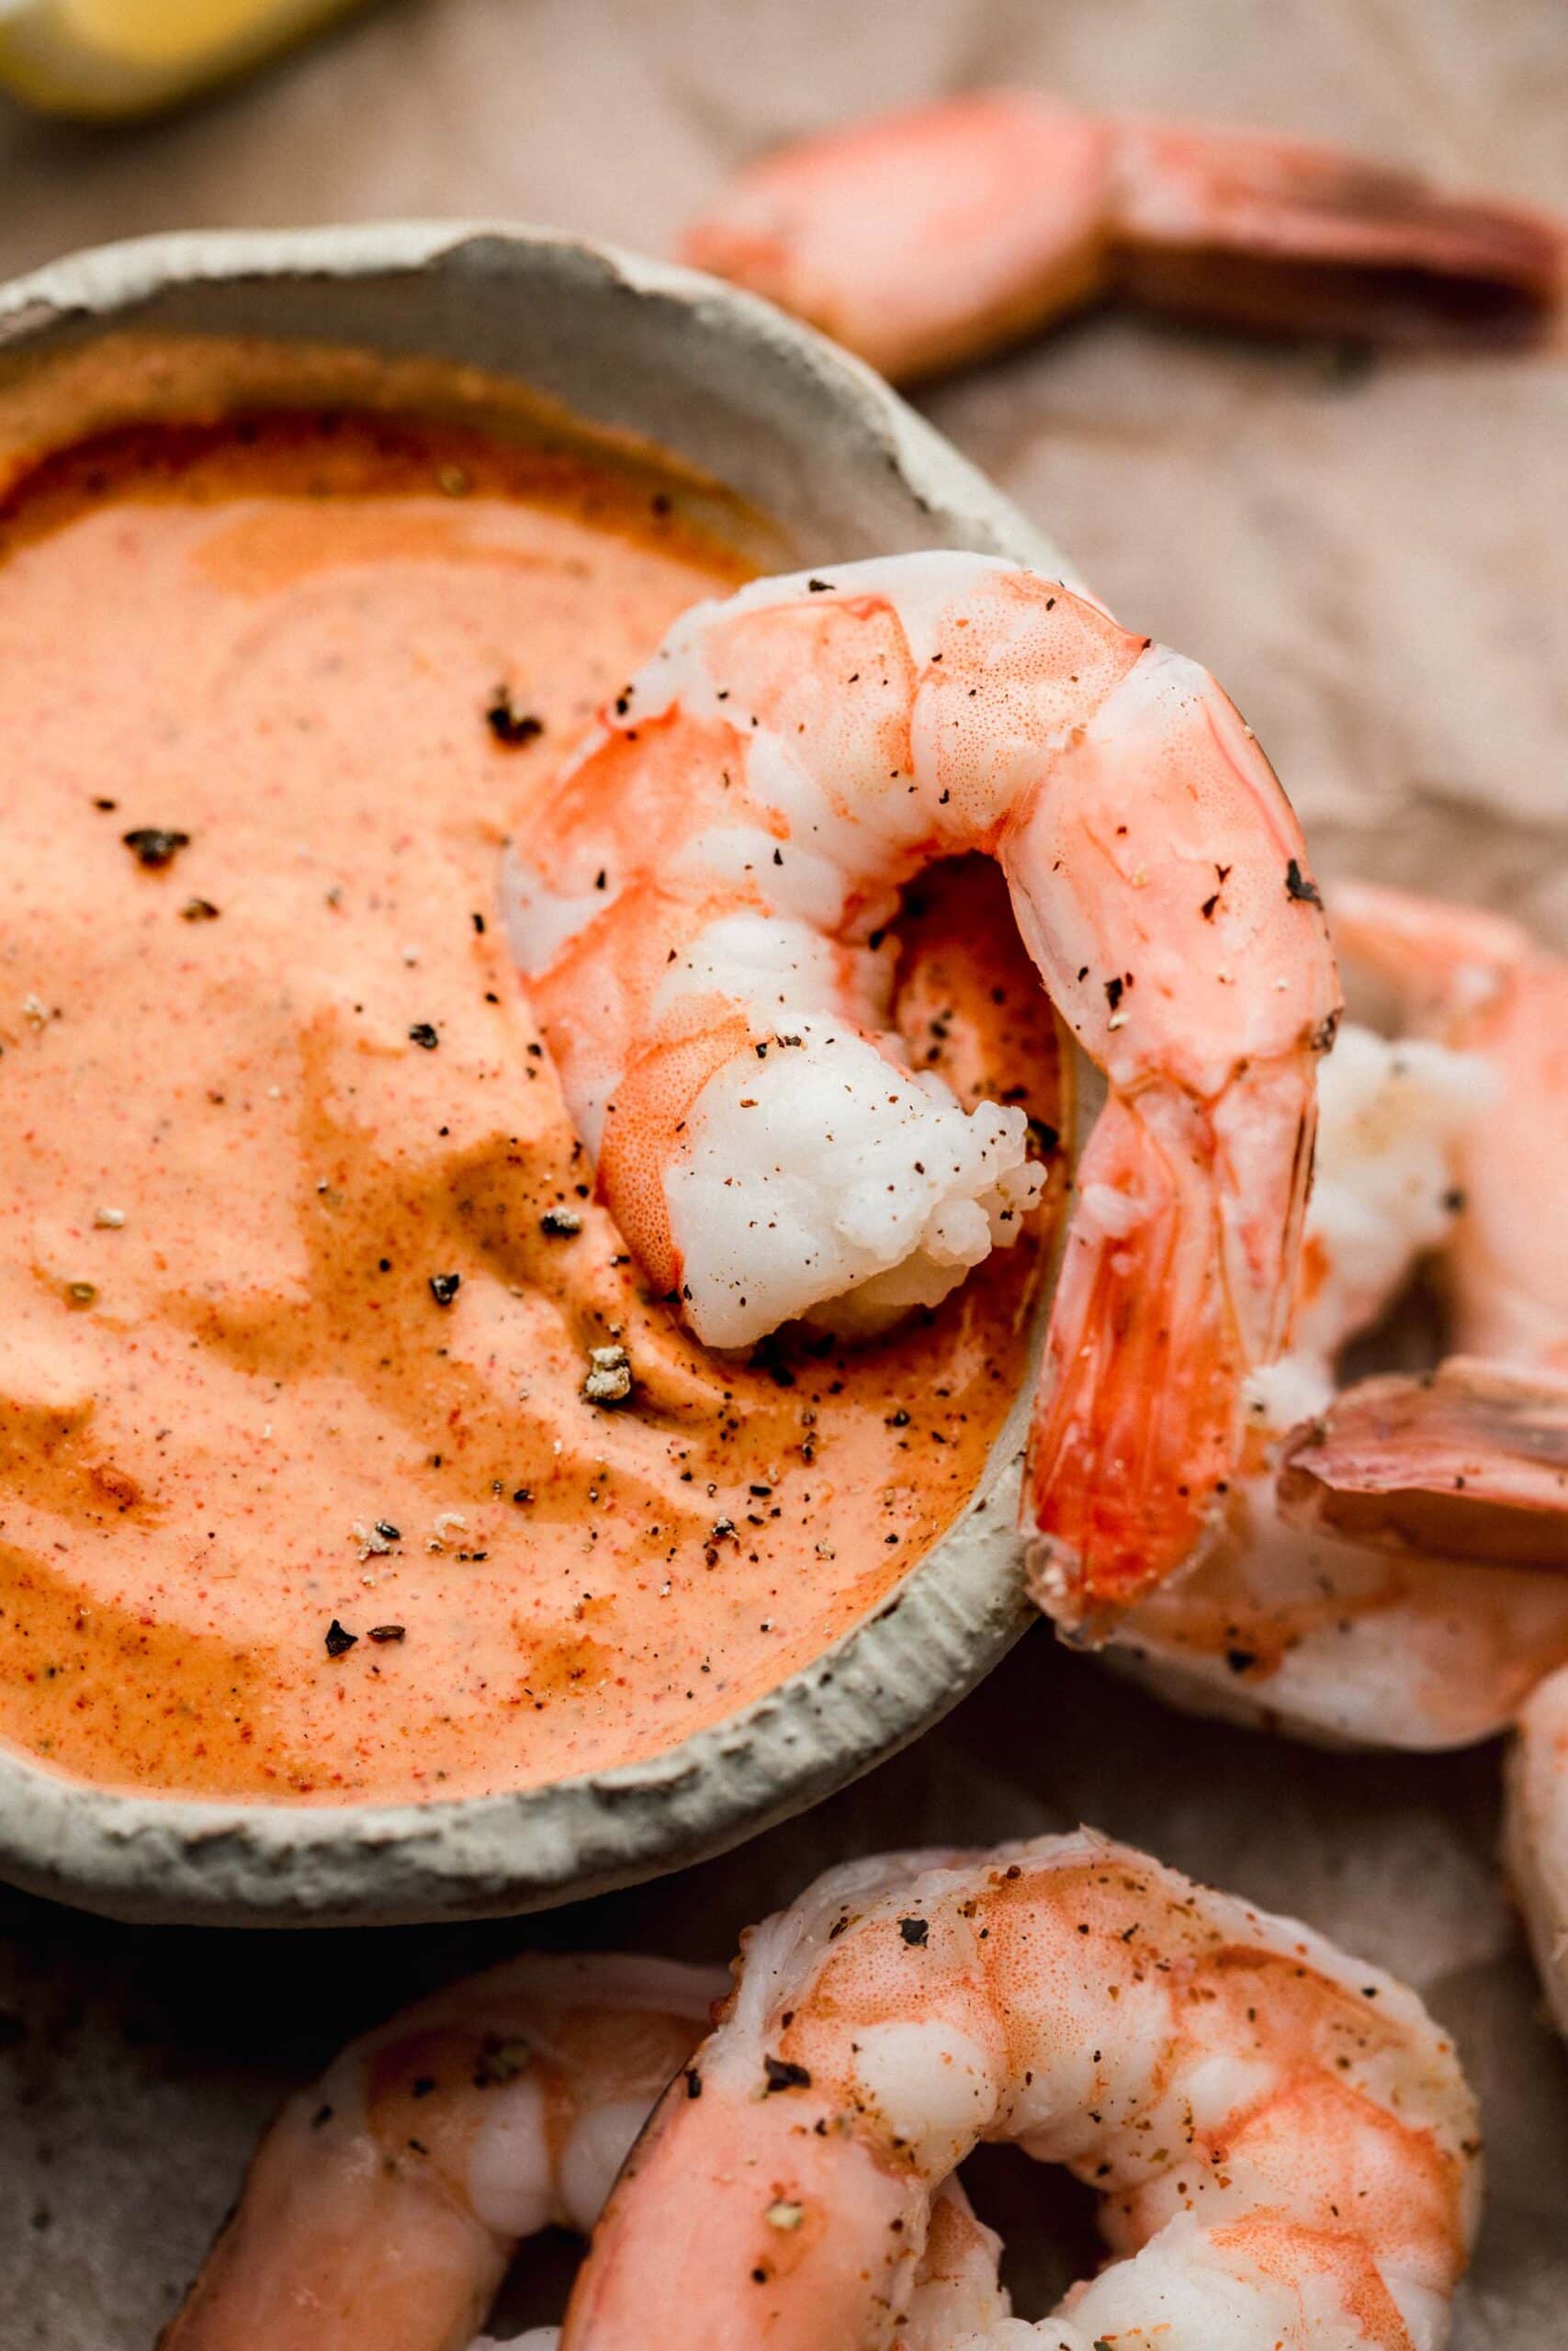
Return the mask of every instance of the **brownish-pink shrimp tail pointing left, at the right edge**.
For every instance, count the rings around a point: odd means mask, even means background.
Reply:
[[[1448,1357],[1286,1441],[1279,1512],[1371,1549],[1568,1570],[1568,1373]]]

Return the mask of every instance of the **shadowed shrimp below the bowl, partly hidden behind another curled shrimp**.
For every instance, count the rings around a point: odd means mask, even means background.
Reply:
[[[522,2238],[592,2226],[722,1991],[531,1954],[350,2043],[268,2130],[162,2351],[465,2351]]]

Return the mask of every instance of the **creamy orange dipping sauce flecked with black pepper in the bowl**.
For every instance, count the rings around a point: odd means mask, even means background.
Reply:
[[[0,508],[14,1747],[310,1803],[628,1761],[820,1655],[964,1505],[1041,1234],[877,1347],[705,1357],[592,1199],[491,915],[517,795],[741,576],[654,473],[393,418],[106,435]],[[917,1058],[1060,1124],[990,868],[903,940]]]

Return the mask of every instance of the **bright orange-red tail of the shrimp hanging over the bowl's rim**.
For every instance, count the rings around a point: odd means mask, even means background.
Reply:
[[[1237,1126],[1225,1098],[1145,1086],[1107,1100],[1084,1152],[1023,1502],[1032,1596],[1077,1639],[1225,1526],[1244,1380],[1293,1288],[1312,1081],[1281,1070],[1260,1100],[1253,1074],[1246,1143]],[[1253,1227],[1248,1199],[1281,1194]]]

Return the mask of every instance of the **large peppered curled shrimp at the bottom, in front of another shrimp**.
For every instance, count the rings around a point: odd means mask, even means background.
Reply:
[[[562,2351],[886,2346],[978,2139],[1100,2191],[1112,2259],[1039,2344],[1436,2351],[1474,2132],[1410,1991],[1140,1853],[1081,1831],[851,1862],[745,1937]]]

